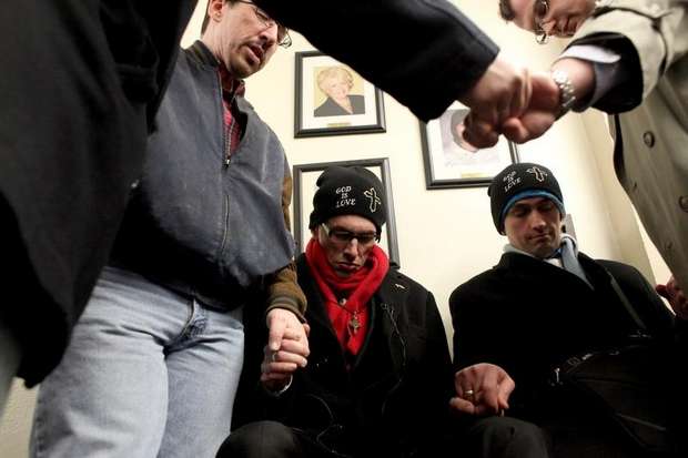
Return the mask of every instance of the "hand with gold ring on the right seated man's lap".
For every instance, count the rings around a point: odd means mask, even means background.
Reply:
[[[469,415],[498,415],[509,408],[508,399],[516,384],[502,367],[480,363],[454,375],[456,397],[449,405]]]

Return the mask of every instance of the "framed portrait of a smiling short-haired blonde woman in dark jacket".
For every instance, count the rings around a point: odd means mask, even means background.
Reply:
[[[295,55],[295,138],[386,132],[380,89],[320,51]]]

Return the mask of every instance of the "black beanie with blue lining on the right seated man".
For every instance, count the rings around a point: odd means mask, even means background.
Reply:
[[[559,183],[552,171],[544,165],[529,162],[512,164],[499,172],[487,189],[492,218],[497,232],[504,234],[504,218],[518,201],[530,197],[547,197],[566,215]]]

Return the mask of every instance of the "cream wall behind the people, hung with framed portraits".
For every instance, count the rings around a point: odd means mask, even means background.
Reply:
[[[532,35],[499,20],[496,1],[492,3],[461,2],[506,57],[534,70],[546,70],[563,43],[535,44]],[[198,37],[201,10],[184,37],[184,45]],[[435,294],[451,336],[449,294],[493,266],[505,243],[492,223],[486,189],[426,191],[419,123],[388,95],[384,100],[386,133],[294,139],[294,53],[313,47],[296,33],[292,37],[292,48],[280,49],[265,70],[247,80],[246,98],[277,133],[292,165],[389,157],[402,272]],[[413,31],[403,32],[399,45],[404,40],[413,40]],[[611,141],[601,113],[568,114],[543,138],[519,146],[519,152],[522,161],[539,162],[557,175],[583,251],[594,257],[635,264],[650,282],[655,275],[666,279],[666,266],[644,237],[614,176]],[[0,457],[27,456],[33,404],[34,390],[14,390],[0,424]]]

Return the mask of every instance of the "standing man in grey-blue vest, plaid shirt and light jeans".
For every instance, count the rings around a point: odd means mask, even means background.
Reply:
[[[32,456],[214,455],[241,376],[243,309],[259,291],[273,342],[301,332],[306,364],[290,167],[243,81],[286,33],[236,0],[212,0],[206,17],[176,60],[110,262],[41,383]]]

